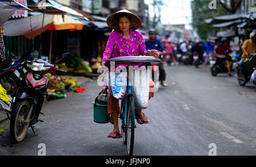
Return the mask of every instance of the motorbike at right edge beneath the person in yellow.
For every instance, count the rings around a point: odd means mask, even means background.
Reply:
[[[242,70],[238,68],[237,64],[237,80],[240,86],[245,86],[247,82],[256,85],[256,52],[250,56],[250,60],[243,62]]]

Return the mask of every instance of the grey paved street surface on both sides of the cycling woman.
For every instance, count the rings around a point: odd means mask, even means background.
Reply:
[[[240,87],[235,77],[210,76],[208,68],[166,66],[169,87],[161,87],[144,110],[147,125],[135,129],[134,155],[207,156],[211,143],[222,155],[256,155],[256,86]],[[93,98],[101,90],[96,81],[84,93],[43,107],[44,123],[38,136],[31,129],[24,141],[13,144],[9,129],[2,133],[0,155],[38,155],[46,144],[47,155],[126,155],[122,139],[108,139],[112,124],[93,122]],[[210,145],[210,148],[209,148]]]

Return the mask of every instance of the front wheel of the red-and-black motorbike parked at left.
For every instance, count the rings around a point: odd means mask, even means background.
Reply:
[[[19,101],[15,103],[11,111],[10,135],[14,143],[23,141],[30,125],[30,103]]]

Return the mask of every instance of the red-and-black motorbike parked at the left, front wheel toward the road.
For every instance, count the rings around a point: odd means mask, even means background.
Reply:
[[[14,143],[23,141],[28,127],[31,127],[36,135],[34,124],[43,122],[38,117],[49,84],[49,79],[44,77],[44,74],[65,73],[57,69],[56,64],[68,60],[69,57],[69,53],[64,53],[54,65],[40,59],[7,61],[0,64],[0,83],[10,98],[9,103],[0,99],[0,110],[7,112],[10,119],[10,136]]]

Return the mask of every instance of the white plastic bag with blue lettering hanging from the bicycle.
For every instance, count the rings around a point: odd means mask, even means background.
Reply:
[[[126,93],[127,72],[110,72],[109,81],[109,88],[112,91],[113,97],[120,100],[123,99]]]

